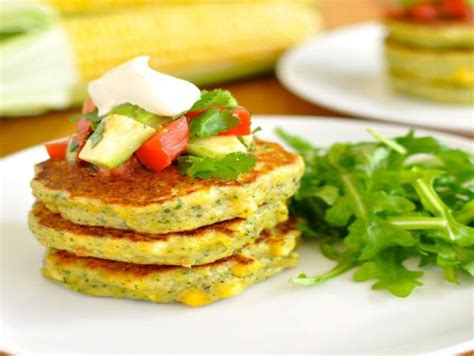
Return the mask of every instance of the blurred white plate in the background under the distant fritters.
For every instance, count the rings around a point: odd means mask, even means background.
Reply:
[[[286,53],[277,76],[302,98],[351,115],[472,133],[474,108],[410,99],[389,88],[383,36],[373,23],[328,32]]]

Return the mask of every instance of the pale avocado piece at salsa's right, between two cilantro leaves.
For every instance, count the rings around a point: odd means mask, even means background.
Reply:
[[[213,136],[193,138],[189,141],[188,152],[198,157],[221,158],[233,152],[247,152],[237,136]]]

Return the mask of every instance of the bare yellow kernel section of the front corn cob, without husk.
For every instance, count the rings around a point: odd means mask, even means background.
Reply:
[[[259,67],[314,33],[318,16],[314,7],[301,4],[205,4],[78,16],[63,24],[87,82],[144,54],[154,68],[185,77]]]

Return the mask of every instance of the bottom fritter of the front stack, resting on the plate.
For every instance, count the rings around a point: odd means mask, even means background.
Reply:
[[[201,306],[237,295],[250,285],[296,265],[298,255],[294,248],[299,234],[291,220],[266,230],[258,242],[238,254],[192,268],[134,265],[51,249],[45,257],[43,275],[94,296]],[[279,249],[272,245],[285,246],[285,251],[275,254]]]

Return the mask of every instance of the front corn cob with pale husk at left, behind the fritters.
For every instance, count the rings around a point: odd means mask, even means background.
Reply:
[[[0,116],[75,104],[87,82],[139,55],[151,56],[157,70],[198,85],[269,70],[282,51],[319,29],[320,16],[307,0],[195,0],[68,14],[50,23],[0,41]]]

